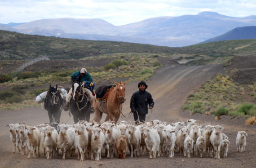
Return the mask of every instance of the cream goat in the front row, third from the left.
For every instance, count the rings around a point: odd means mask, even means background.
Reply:
[[[33,151],[33,157],[36,158],[36,152],[38,149],[38,157],[40,156],[40,142],[41,142],[41,133],[37,127],[25,126],[25,129],[28,131],[28,158],[30,158],[30,152]]]

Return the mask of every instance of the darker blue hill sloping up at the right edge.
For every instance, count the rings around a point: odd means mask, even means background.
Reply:
[[[235,28],[223,34],[222,36],[214,37],[201,43],[224,41],[231,39],[256,39],[256,26],[244,26],[240,28]]]

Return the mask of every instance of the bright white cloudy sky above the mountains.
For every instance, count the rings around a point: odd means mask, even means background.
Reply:
[[[0,0],[0,23],[71,17],[125,25],[158,16],[202,11],[245,17],[256,15],[256,0]]]

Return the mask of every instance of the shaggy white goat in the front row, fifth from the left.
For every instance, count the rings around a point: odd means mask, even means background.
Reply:
[[[74,132],[69,129],[68,125],[61,124],[59,125],[60,134],[58,135],[57,147],[63,151],[63,160],[68,158],[71,153],[72,148],[74,147],[75,135]],[[66,157],[67,155],[67,157]]]

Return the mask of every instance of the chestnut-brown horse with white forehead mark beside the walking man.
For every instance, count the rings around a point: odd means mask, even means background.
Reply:
[[[125,84],[126,82],[117,83],[108,91],[105,103],[101,100],[95,100],[94,111],[95,119],[100,122],[102,114],[107,114],[105,121],[111,120],[117,122],[122,113],[122,103],[125,102]]]

